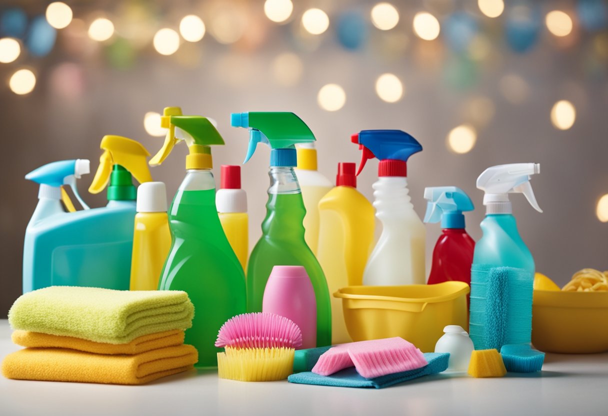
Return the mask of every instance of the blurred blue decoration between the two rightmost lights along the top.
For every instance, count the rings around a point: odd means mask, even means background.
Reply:
[[[506,43],[515,52],[530,50],[541,34],[541,10],[527,3],[511,6],[506,16]]]

